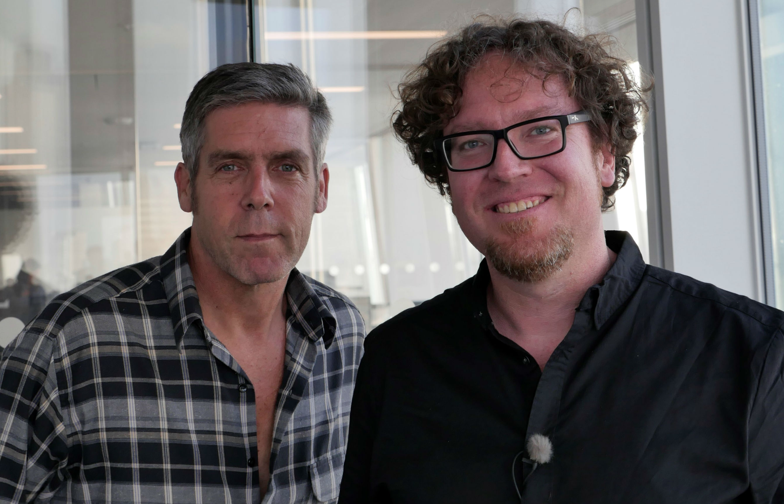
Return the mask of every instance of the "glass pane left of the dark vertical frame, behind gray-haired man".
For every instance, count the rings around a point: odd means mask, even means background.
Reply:
[[[191,88],[244,0],[0,0],[0,346],[59,292],[165,252]]]

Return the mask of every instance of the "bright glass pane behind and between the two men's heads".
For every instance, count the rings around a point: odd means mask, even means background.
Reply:
[[[479,9],[561,21],[573,7],[581,10],[570,13],[570,26],[610,31],[619,39],[621,56],[637,59],[633,1],[491,0],[450,6],[410,0],[259,0],[256,5],[257,60],[302,67],[325,92],[335,115],[326,157],[329,205],[314,219],[298,267],[350,296],[371,327],[472,276],[481,260],[448,203],[426,186],[392,135],[394,90],[412,63]],[[629,230],[647,257],[641,153],[640,141],[633,176],[605,224]]]

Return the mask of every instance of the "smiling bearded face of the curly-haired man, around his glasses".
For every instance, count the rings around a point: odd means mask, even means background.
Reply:
[[[508,57],[491,54],[466,75],[459,113],[444,134],[579,110],[557,78],[543,87]],[[448,172],[463,233],[506,277],[541,281],[602,233],[601,187],[615,179],[615,158],[608,146],[593,148],[587,123],[569,125],[566,138],[562,152],[530,160],[502,140],[488,168]]]

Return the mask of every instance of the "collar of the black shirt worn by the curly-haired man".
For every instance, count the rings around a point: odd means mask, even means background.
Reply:
[[[578,310],[593,310],[593,322],[597,328],[604,325],[637,290],[646,267],[640,249],[626,231],[604,231],[604,240],[618,257],[601,283],[589,288],[578,306]],[[471,309],[483,328],[492,325],[487,309],[489,282],[487,259],[483,259],[471,286]]]

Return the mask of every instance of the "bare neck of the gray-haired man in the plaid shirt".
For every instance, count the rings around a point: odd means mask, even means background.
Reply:
[[[270,329],[285,317],[288,276],[265,284],[243,284],[216,265],[195,230],[188,245],[188,263],[205,325],[224,344],[275,334]]]

